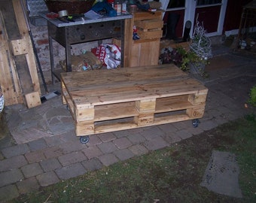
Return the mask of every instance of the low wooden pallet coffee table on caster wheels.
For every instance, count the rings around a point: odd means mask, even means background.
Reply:
[[[61,74],[62,102],[88,135],[203,117],[208,89],[175,65]]]

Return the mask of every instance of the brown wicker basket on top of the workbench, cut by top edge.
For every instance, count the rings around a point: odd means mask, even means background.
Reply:
[[[50,12],[66,10],[68,14],[84,14],[89,11],[95,0],[44,0]]]

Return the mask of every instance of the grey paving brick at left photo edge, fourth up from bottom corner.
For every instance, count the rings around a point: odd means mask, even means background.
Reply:
[[[23,155],[24,153],[28,153],[28,152],[29,152],[29,147],[27,144],[17,144],[2,150],[2,154],[5,156],[5,158]]]

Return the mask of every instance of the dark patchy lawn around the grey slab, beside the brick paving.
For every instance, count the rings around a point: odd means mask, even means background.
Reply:
[[[256,119],[253,114],[192,138],[118,162],[10,202],[256,202]],[[243,198],[200,186],[212,150],[235,153]]]

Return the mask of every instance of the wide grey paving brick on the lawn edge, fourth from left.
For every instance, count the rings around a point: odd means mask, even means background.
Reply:
[[[75,163],[58,168],[55,170],[55,172],[60,180],[66,180],[71,177],[77,177],[81,174],[85,174],[87,171],[81,163]]]

